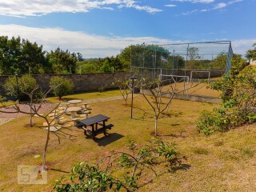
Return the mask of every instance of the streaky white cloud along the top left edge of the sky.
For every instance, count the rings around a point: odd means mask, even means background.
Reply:
[[[58,12],[86,13],[92,9],[113,10],[117,6],[145,10],[150,14],[162,11],[140,6],[133,0],[0,0],[0,15],[26,17]]]

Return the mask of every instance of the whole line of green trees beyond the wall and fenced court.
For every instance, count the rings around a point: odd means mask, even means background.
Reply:
[[[155,50],[158,51],[158,54]],[[159,54],[160,53],[160,54]],[[153,45],[126,46],[116,56],[106,58],[83,59],[80,53],[57,48],[47,52],[36,42],[28,39],[0,36],[0,74],[79,74],[106,73],[130,70],[132,66],[162,68],[196,67],[197,69],[222,68],[226,65],[226,55],[219,54],[212,61],[203,60],[197,47],[188,50],[188,61],[179,55]],[[233,66],[240,66],[245,60],[240,54],[234,54]]]

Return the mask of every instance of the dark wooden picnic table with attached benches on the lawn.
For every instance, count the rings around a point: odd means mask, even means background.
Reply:
[[[113,124],[106,125],[108,119],[110,118],[106,117],[105,115],[98,114],[90,118],[79,120],[76,126],[81,127],[86,136],[95,138],[97,134],[103,133],[106,135],[106,130],[111,130],[112,126],[114,126]],[[88,128],[88,126],[91,127],[91,130]]]

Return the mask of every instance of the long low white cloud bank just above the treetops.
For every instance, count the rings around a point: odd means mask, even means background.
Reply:
[[[36,28],[18,25],[0,25],[0,35],[27,38],[30,42],[37,42],[44,50],[54,50],[58,46],[62,50],[80,52],[84,58],[98,58],[112,56],[120,53],[120,50],[131,44],[167,44],[184,41],[172,41],[165,38],[154,37],[120,37],[85,34],[80,31],[69,31],[60,28]],[[216,40],[216,39],[214,39]],[[232,41],[235,54],[246,54],[246,50],[252,49],[253,39],[236,39]]]

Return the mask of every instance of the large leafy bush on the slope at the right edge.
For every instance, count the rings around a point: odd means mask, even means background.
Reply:
[[[210,85],[221,90],[222,105],[204,111],[196,122],[199,132],[212,134],[226,131],[246,122],[256,122],[256,68],[246,66],[240,73],[232,71]]]

